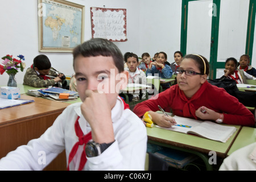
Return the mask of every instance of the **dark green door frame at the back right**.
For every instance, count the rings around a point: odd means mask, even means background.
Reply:
[[[183,55],[186,55],[187,51],[187,23],[188,23],[188,3],[190,1],[199,0],[183,0],[182,12],[181,12],[181,38],[180,38],[180,51]],[[212,16],[212,32],[211,32],[211,46],[210,46],[210,73],[209,78],[216,78],[216,69],[224,68],[224,62],[217,62],[218,54],[218,31],[220,23],[220,4],[221,0],[213,0],[213,16]],[[255,6],[255,7],[254,7]],[[250,0],[249,16],[247,23],[247,36],[246,36],[246,50],[245,54],[252,58],[253,55],[253,40],[254,40],[254,27],[255,27],[255,12],[256,12],[256,0]]]

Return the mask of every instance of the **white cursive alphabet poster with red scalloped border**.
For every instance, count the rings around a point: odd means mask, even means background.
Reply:
[[[104,38],[113,42],[125,42],[126,9],[91,7],[92,38]]]

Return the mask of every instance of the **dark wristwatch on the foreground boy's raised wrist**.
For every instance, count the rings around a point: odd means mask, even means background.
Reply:
[[[115,140],[114,140],[115,142]],[[96,143],[93,140],[89,141],[85,146],[85,154],[88,158],[101,155],[112,143]]]

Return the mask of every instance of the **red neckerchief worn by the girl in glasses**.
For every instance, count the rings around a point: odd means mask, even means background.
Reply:
[[[185,96],[183,90],[180,90],[180,88],[178,88],[178,93],[180,95],[181,100],[185,101],[185,105],[183,106],[183,116],[187,117],[187,118],[195,118],[196,117],[196,109],[195,106],[191,103],[193,100],[196,100],[197,98],[199,98],[201,96],[201,94],[204,92],[205,88],[207,88],[207,84],[208,82],[205,81],[203,85],[201,85],[200,89],[197,90],[197,92],[189,99],[187,98],[187,96]]]

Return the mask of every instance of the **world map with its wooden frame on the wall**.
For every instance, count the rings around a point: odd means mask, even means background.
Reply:
[[[39,52],[72,52],[84,42],[84,6],[38,0]]]

